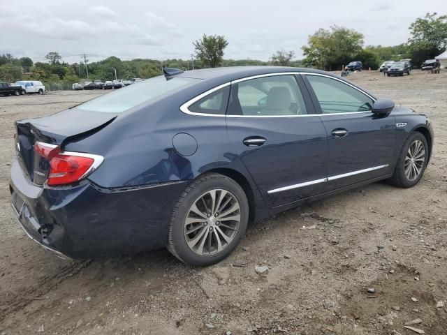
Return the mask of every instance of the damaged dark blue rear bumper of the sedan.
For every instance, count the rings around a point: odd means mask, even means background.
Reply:
[[[15,161],[13,208],[27,235],[62,258],[98,258],[166,246],[168,224],[185,182],[145,188],[43,188]]]

